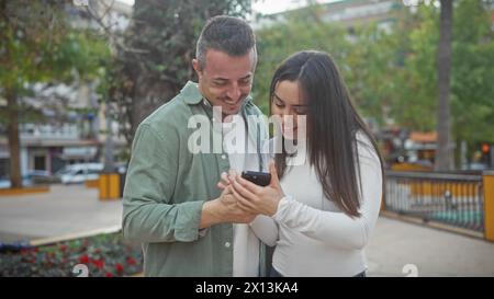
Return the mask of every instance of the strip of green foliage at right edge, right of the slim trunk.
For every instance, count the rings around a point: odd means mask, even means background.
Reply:
[[[456,1],[452,38],[452,135],[469,152],[481,142],[494,142],[493,1]],[[458,151],[457,151],[458,153]],[[459,159],[457,159],[458,161]]]

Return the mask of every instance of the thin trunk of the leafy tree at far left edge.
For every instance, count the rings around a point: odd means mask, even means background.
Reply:
[[[10,152],[10,183],[12,188],[22,187],[21,179],[21,142],[19,138],[19,108],[16,93],[5,91],[7,108],[9,111],[8,138]]]

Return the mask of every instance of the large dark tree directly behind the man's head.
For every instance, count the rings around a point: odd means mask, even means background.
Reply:
[[[205,21],[217,14],[245,16],[249,11],[250,0],[135,1],[110,88],[128,143],[137,125],[194,78],[191,60]]]

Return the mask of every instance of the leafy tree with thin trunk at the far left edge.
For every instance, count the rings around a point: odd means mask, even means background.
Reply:
[[[0,0],[0,96],[7,100],[0,119],[8,131],[11,187],[22,186],[19,125],[43,120],[41,111],[23,101],[26,95],[36,96],[33,84],[94,80],[108,56],[105,43],[89,31],[71,28],[67,3]]]

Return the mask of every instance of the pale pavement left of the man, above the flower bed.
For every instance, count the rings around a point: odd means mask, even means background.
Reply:
[[[121,226],[122,202],[101,202],[85,185],[0,197],[0,242],[33,240]]]

